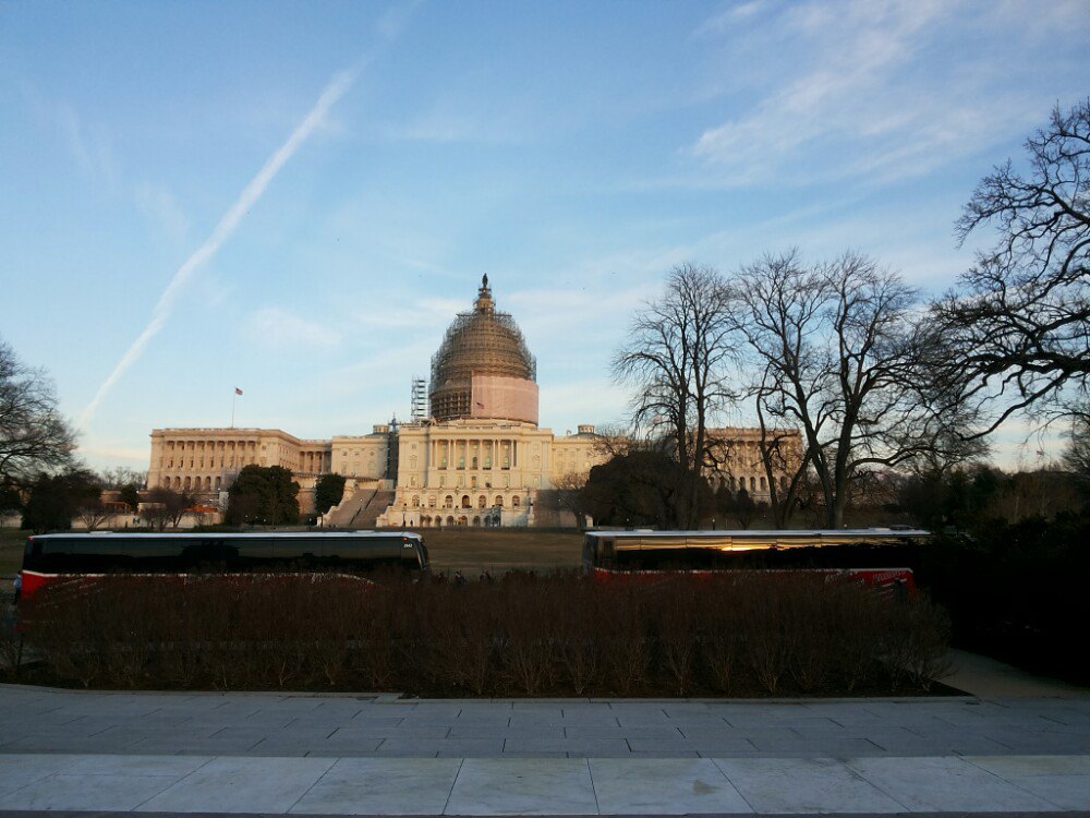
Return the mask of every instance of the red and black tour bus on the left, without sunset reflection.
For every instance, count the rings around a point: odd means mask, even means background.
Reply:
[[[63,579],[111,574],[340,574],[429,570],[420,534],[384,531],[35,534],[23,552],[23,598]]]

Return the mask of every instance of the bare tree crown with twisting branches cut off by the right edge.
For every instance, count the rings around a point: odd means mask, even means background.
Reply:
[[[985,225],[998,242],[933,305],[938,385],[976,413],[978,435],[1024,410],[1066,414],[1087,397],[1090,99],[1056,107],[1026,151],[1026,175],[1007,160],[965,206],[959,243]]]

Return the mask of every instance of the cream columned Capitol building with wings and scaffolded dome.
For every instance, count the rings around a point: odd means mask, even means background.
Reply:
[[[318,478],[346,478],[325,525],[574,525],[557,489],[581,484],[609,455],[593,425],[566,436],[538,425],[536,361],[512,317],[496,310],[487,276],[432,357],[427,405],[411,422],[327,441],[277,429],[156,429],[147,485],[218,501],[244,466],[281,466],[300,484],[304,513]],[[731,488],[767,495],[755,430],[717,431],[738,453]]]

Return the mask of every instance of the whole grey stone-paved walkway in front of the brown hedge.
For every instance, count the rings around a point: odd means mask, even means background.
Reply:
[[[1090,698],[396,700],[0,687],[8,810],[1090,809]]]

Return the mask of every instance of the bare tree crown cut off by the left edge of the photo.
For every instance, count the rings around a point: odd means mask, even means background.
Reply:
[[[74,448],[50,380],[0,341],[0,483],[27,486],[38,472],[69,465]]]

